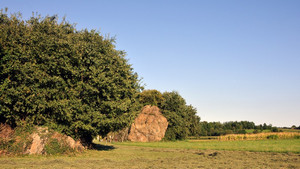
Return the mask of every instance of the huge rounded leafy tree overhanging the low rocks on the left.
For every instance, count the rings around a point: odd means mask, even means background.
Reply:
[[[47,125],[87,143],[130,123],[137,74],[114,40],[56,16],[0,13],[0,122]]]

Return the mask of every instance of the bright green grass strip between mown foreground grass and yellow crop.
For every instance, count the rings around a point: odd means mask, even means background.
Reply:
[[[300,153],[300,140],[245,140],[245,141],[176,141],[176,142],[123,142],[116,145],[142,146],[153,148],[180,148],[199,150],[234,150],[255,152]]]

